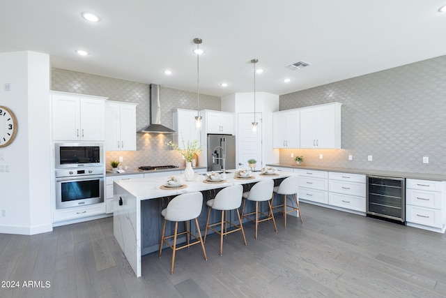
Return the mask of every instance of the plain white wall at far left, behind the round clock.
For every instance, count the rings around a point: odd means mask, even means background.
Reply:
[[[0,54],[0,105],[17,117],[17,136],[0,148],[0,232],[37,234],[52,230],[49,142],[49,56],[36,52]],[[3,85],[10,83],[11,91]]]

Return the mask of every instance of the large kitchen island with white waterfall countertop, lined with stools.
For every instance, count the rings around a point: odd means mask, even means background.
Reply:
[[[205,176],[195,174],[194,180],[185,181],[186,187],[181,189],[160,188],[169,176],[114,181],[114,237],[134,273],[139,277],[141,254],[148,253],[143,252],[143,241],[152,241],[152,251],[160,243],[160,209],[165,207],[162,198],[173,198],[195,191],[212,191],[236,184],[253,184],[264,179],[283,179],[291,175],[293,172],[281,171],[275,175],[254,172],[252,179],[236,179],[233,173],[227,173],[223,183],[205,183]],[[206,208],[206,202],[203,202],[203,205]]]

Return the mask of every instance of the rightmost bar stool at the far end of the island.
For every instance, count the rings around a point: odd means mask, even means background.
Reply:
[[[284,179],[284,181],[282,181],[279,186],[276,186],[274,188],[274,192],[279,195],[284,195],[284,202],[282,202],[282,204],[272,206],[272,209],[276,209],[276,210],[282,212],[282,214],[284,214],[285,228],[286,228],[286,214],[293,212],[293,211],[299,212],[300,222],[303,223],[302,214],[300,214],[299,197],[298,197],[299,176],[294,175],[294,176]],[[289,204],[287,204],[288,195],[293,195],[296,207],[290,206]],[[274,201],[274,197],[271,200],[271,204],[273,204],[273,201]],[[291,209],[289,209],[289,208],[291,208]]]

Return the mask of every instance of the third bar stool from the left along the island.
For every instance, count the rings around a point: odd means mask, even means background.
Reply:
[[[272,189],[274,188],[274,181],[272,181],[272,179],[268,179],[268,180],[263,180],[260,182],[257,182],[256,184],[254,184],[254,186],[252,186],[251,190],[243,193],[243,198],[245,200],[243,200],[243,207],[242,207],[242,218],[247,218],[249,219],[249,221],[253,221],[256,225],[256,239],[257,239],[257,228],[259,223],[261,223],[262,221],[269,221],[270,219],[272,219],[272,223],[274,223],[274,228],[277,232],[277,225],[276,225],[276,221],[274,219],[274,214],[272,214],[272,208],[271,208],[271,202],[270,200],[272,199]],[[246,201],[254,201],[256,202],[256,211],[254,212],[250,212],[245,214],[245,204]],[[263,202],[263,201],[268,201],[268,207],[270,209],[269,214],[264,214],[263,212],[259,211],[259,202]],[[255,220],[253,220],[252,218],[249,218],[248,216],[252,216],[255,214]],[[259,220],[259,214],[266,216],[266,218],[263,218],[261,220]]]

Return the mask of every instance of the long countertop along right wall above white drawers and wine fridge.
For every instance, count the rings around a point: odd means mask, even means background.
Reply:
[[[319,170],[328,172],[344,172],[351,174],[365,174],[384,177],[399,177],[409,179],[422,179],[433,181],[446,181],[446,174],[423,174],[423,173],[411,173],[411,172],[398,172],[398,171],[384,171],[384,170],[370,170],[370,169],[353,169],[348,167],[323,167],[318,165],[291,165],[289,163],[268,163],[268,167],[286,167],[289,169],[300,170]]]

